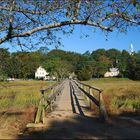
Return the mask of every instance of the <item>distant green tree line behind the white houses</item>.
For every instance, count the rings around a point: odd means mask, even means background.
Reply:
[[[59,49],[10,53],[8,49],[0,48],[0,80],[7,77],[34,79],[39,66],[57,79],[66,78],[71,73],[75,73],[79,80],[100,78],[109,68],[117,67],[119,77],[140,80],[140,51],[134,55],[117,49],[97,49],[84,54]]]

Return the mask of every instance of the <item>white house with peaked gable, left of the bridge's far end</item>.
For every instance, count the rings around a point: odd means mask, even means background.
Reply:
[[[37,78],[37,79],[42,78],[44,80],[49,80],[50,76],[49,76],[49,73],[40,66],[39,68],[37,68],[37,70],[35,72],[35,78]]]

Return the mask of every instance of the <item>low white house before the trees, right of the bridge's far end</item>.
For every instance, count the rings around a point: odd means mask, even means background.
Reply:
[[[119,70],[118,68],[110,68],[109,69],[110,71],[107,71],[105,74],[104,74],[104,77],[116,77],[119,75]]]

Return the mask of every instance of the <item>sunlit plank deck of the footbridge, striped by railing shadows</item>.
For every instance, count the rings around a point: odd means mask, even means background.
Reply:
[[[82,91],[69,80],[65,81],[62,94],[55,102],[55,109],[51,114],[73,115],[73,113],[85,115],[89,105],[84,98]]]

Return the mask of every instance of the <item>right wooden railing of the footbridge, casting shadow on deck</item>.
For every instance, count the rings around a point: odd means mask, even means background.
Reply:
[[[101,88],[85,84],[78,80],[73,80],[73,82],[75,82],[77,84],[77,86],[81,90],[83,90],[84,95],[86,96],[86,98],[90,104],[90,107],[91,107],[91,102],[94,102],[94,104],[99,107],[100,118],[102,120],[108,120],[108,115],[107,115],[107,111],[106,111],[106,108],[104,105],[104,100],[103,100],[103,90]],[[93,93],[94,93],[93,90],[97,91],[96,93],[98,93],[98,99],[96,99],[93,96]]]

